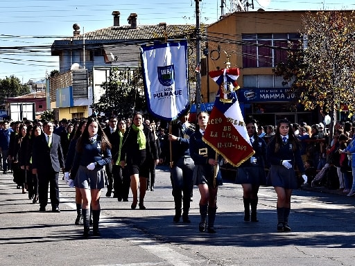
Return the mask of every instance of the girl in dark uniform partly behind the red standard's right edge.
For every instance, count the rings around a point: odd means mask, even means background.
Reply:
[[[238,172],[236,184],[241,184],[243,187],[244,221],[250,221],[251,208],[251,221],[259,222],[257,220],[258,191],[260,185],[266,184],[264,170],[266,143],[258,136],[256,121],[248,121],[246,127],[255,154],[236,168]]]

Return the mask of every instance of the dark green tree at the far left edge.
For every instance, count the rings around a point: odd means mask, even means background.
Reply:
[[[21,85],[21,80],[15,76],[6,77],[0,80],[0,103],[6,98],[29,94],[28,87]]]

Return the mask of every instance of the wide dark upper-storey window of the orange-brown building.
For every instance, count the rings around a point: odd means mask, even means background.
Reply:
[[[286,62],[288,42],[297,43],[298,33],[243,34],[243,68],[275,67]]]

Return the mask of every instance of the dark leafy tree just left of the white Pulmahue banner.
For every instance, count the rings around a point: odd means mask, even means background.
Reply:
[[[105,114],[117,114],[130,117],[134,110],[146,110],[141,69],[111,69],[107,82],[103,82],[103,94],[92,109]]]

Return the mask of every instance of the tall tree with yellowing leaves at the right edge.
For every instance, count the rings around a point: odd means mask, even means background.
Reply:
[[[302,17],[302,40],[298,49],[288,53],[275,74],[291,82],[305,109],[319,106],[331,114],[330,134],[340,105],[355,110],[355,24],[354,12],[307,12]],[[302,48],[304,46],[305,48]]]

